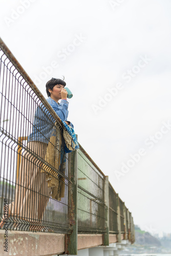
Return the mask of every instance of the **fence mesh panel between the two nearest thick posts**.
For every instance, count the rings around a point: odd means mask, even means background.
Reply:
[[[78,232],[103,233],[104,177],[78,150]]]

